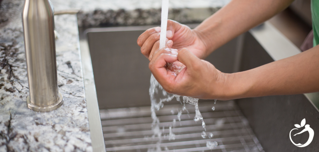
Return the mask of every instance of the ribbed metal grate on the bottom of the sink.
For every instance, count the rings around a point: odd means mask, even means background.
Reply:
[[[160,120],[162,143],[160,147],[167,152],[259,152],[262,146],[249,127],[247,119],[242,115],[234,101],[199,102],[199,110],[206,123],[206,133],[213,133],[209,139],[201,137],[201,121],[195,122],[194,105],[187,104],[181,121],[177,113],[182,105],[164,105],[156,112]],[[211,107],[215,106],[212,111]],[[172,111],[174,114],[172,114]],[[156,148],[159,137],[152,137],[152,118],[150,107],[135,107],[122,109],[100,110],[106,151],[116,152],[146,152],[149,148]],[[172,132],[175,140],[169,141],[165,136],[169,134],[169,126],[176,119],[176,126]],[[163,129],[164,127],[164,129]],[[211,149],[206,147],[206,141],[217,141],[218,146]]]

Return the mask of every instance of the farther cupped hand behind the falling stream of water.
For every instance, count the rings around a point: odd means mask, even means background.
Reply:
[[[137,44],[141,47],[142,54],[150,61],[152,60],[153,54],[159,50],[159,35],[160,27],[154,27],[146,30],[137,39]],[[196,30],[191,30],[186,25],[168,20],[166,37],[167,47],[177,50],[187,48],[200,59],[206,56],[207,48],[204,41],[201,40],[199,33]],[[155,45],[156,43],[158,44]]]

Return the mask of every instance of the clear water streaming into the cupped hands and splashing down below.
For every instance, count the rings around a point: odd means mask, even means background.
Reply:
[[[159,49],[165,47],[165,40],[166,40],[166,29],[167,29],[167,16],[168,16],[168,0],[162,0],[162,14],[161,14],[161,32],[160,32],[160,39],[159,39]],[[166,65],[167,70],[171,70],[173,72],[174,76],[177,76],[182,69],[185,68],[185,65],[183,65],[181,62],[174,62],[174,63],[167,63]],[[179,101],[181,104],[180,96],[179,95],[174,95],[174,94],[169,94],[167,93],[163,87],[157,82],[153,74],[151,75],[151,80],[150,80],[150,98],[151,98],[151,116],[153,119],[152,122],[152,131],[153,135],[152,137],[155,138],[156,136],[159,138],[159,141],[156,144],[156,151],[161,151],[160,144],[161,144],[161,136],[164,132],[164,127],[163,130],[161,131],[159,129],[159,119],[156,116],[155,111],[159,110],[164,106],[164,102],[169,102],[172,99],[176,98],[177,101]],[[203,117],[201,113],[199,112],[198,109],[198,99],[197,98],[192,98],[192,97],[185,97],[182,96],[183,99],[183,105],[182,105],[182,110],[178,111],[177,118],[179,121],[181,121],[181,115],[182,111],[186,110],[185,103],[189,103],[195,106],[195,117],[194,121],[199,121],[202,120],[202,127],[206,131],[205,128],[205,122],[203,120]],[[174,114],[174,111],[171,111],[172,114]],[[187,113],[189,113],[187,111]],[[172,127],[174,128],[176,125],[176,119],[173,119],[172,125],[169,127],[169,134],[168,134],[168,140],[175,140],[175,134],[172,132]],[[203,133],[205,133],[203,131]],[[163,137],[166,135],[163,135]],[[203,137],[204,138],[204,137]],[[206,138],[206,133],[205,133],[205,138]],[[155,149],[148,149],[148,151],[154,151]]]

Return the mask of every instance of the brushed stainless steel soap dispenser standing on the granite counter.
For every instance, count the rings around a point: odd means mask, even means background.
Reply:
[[[22,11],[29,83],[27,107],[48,112],[63,104],[58,92],[54,10],[49,0],[26,0]]]

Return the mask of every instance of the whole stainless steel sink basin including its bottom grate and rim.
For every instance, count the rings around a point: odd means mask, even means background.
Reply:
[[[91,127],[95,127],[94,132],[99,136],[92,142],[101,143],[104,139],[106,151],[143,152],[158,146],[158,137],[152,138],[151,131],[149,61],[136,43],[137,37],[151,27],[154,26],[80,30],[91,136],[93,138]],[[266,22],[231,40],[205,60],[222,72],[233,73],[298,53],[297,47]],[[184,112],[178,121],[177,110],[181,110],[182,105],[176,100],[164,103],[157,111],[160,128],[163,128],[161,150],[205,151],[209,150],[206,141],[217,141],[218,146],[212,151],[318,151],[319,113],[313,96],[267,96],[217,101],[216,104],[212,100],[199,100],[207,133],[214,134],[211,139],[200,136],[203,128],[192,120],[193,105],[187,105],[189,113]],[[310,145],[299,148],[289,140],[289,133],[295,128],[294,124],[300,124],[304,118],[314,129],[315,137]],[[169,141],[165,135],[173,119],[177,120],[172,130],[176,139]],[[293,139],[296,143],[307,140],[307,133]],[[103,144],[99,144],[100,148]]]

